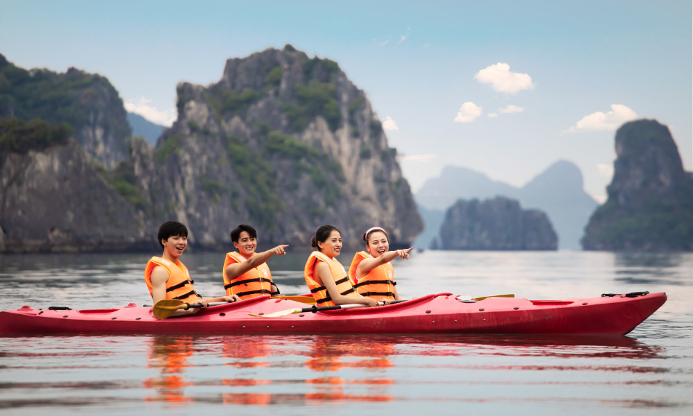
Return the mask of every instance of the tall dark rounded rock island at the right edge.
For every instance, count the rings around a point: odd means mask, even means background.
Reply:
[[[631,121],[616,132],[608,200],[590,218],[586,250],[693,250],[693,179],[669,129]]]

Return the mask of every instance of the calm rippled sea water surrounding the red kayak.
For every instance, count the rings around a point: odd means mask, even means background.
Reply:
[[[151,304],[149,257],[0,256],[1,309]],[[306,257],[270,260],[283,294],[306,292]],[[338,259],[348,267],[351,257]],[[222,293],[222,253],[182,260],[198,291]],[[0,413],[693,413],[693,254],[427,251],[394,266],[403,297],[665,291],[669,300],[626,337],[0,337]]]

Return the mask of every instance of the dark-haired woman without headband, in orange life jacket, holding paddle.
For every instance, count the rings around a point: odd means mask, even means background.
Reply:
[[[347,270],[335,259],[342,250],[342,234],[338,229],[332,225],[322,225],[311,239],[311,245],[317,251],[310,253],[304,268],[304,277],[317,306],[378,306],[375,300],[356,293]]]

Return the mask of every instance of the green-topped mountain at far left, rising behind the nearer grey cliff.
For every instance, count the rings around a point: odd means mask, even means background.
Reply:
[[[90,159],[106,168],[128,158],[123,100],[103,76],[75,68],[26,71],[0,55],[0,119],[13,117],[69,123]]]

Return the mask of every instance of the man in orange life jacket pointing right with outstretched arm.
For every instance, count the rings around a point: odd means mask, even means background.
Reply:
[[[227,253],[224,261],[224,288],[227,295],[238,295],[241,299],[279,295],[279,289],[272,281],[270,268],[265,262],[274,254],[286,254],[284,249],[288,244],[256,253],[257,236],[255,229],[245,224],[238,225],[231,231],[231,241],[238,251]]]

